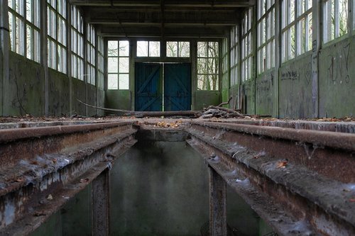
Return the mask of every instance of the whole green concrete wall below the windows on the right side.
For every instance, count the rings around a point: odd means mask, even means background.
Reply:
[[[355,116],[355,67],[351,67],[355,63],[354,39],[353,35],[323,45],[316,57],[314,52],[306,52],[276,70],[229,88],[229,94],[243,100],[244,112],[248,114],[315,118],[314,111],[319,110],[321,118]],[[314,60],[319,64],[315,71],[312,69]],[[318,86],[312,81],[315,72]],[[223,100],[226,101],[225,96]]]

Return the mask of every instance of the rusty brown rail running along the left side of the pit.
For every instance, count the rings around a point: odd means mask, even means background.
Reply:
[[[11,142],[35,137],[47,137],[53,135],[67,135],[71,133],[85,133],[92,130],[102,130],[107,128],[133,125],[134,120],[119,121],[111,123],[94,123],[84,125],[58,125],[38,128],[16,128],[0,130],[0,142]]]

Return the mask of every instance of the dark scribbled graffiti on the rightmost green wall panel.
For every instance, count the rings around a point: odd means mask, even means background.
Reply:
[[[349,52],[350,43],[341,50],[336,50],[327,57],[327,78],[329,84],[349,84]]]

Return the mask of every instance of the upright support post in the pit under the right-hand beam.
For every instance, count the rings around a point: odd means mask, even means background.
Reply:
[[[226,234],[226,181],[209,167],[209,235]]]

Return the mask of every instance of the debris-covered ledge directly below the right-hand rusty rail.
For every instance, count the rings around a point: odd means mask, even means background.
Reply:
[[[207,137],[207,135],[202,136],[193,132],[192,130],[190,130],[189,133],[198,140],[202,140],[202,142],[205,144],[226,154],[226,156],[230,157],[231,159],[236,159],[238,163],[244,164],[246,167],[254,169],[261,175],[267,176],[268,179],[271,179],[271,181],[273,181],[275,184],[281,184],[285,186],[288,191],[297,193],[303,198],[310,200],[316,199],[317,206],[320,206],[324,212],[332,213],[333,215],[336,215],[338,218],[345,220],[351,225],[355,225],[355,214],[351,214],[355,212],[355,205],[347,201],[351,198],[351,192],[348,193],[344,191],[344,189],[346,189],[346,184],[343,184],[340,181],[326,178],[320,174],[310,171],[309,169],[297,167],[293,164],[288,164],[288,172],[290,173],[285,176],[285,169],[283,168],[273,168],[272,170],[268,169],[269,166],[275,167],[278,164],[278,161],[282,159],[280,157],[266,156],[263,157],[262,160],[254,159],[253,157],[255,157],[258,152],[253,152],[246,148],[250,154],[245,154],[244,152],[238,153],[238,151],[234,153],[234,150],[224,150],[224,148],[222,148],[223,145],[226,145],[226,142],[213,140],[212,138]],[[291,170],[295,173],[291,173]],[[293,176],[300,173],[302,173],[304,179],[298,182],[297,178],[293,178]],[[302,182],[307,181],[307,178],[309,179],[306,188]],[[336,194],[333,195],[329,195],[329,193],[328,195],[325,195],[324,189],[321,188],[319,183],[325,183],[329,187],[332,186],[333,190],[338,189],[338,191],[334,191]],[[309,191],[310,189],[308,189],[310,187],[312,189],[312,193]],[[344,201],[339,203],[339,199],[344,199]]]

